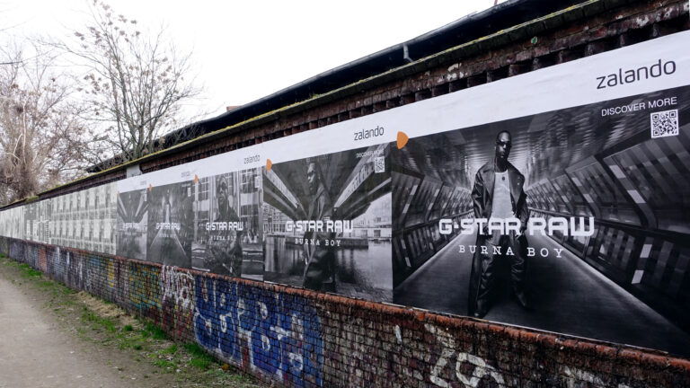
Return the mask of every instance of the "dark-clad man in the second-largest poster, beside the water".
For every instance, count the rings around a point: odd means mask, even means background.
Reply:
[[[328,220],[333,216],[332,201],[328,190],[323,186],[322,173],[319,165],[310,161],[306,168],[306,181],[309,186],[309,220]],[[335,234],[329,235],[307,231],[305,241],[318,240],[320,244],[305,244],[305,274],[303,286],[316,291],[335,292],[335,250],[332,246],[324,246],[323,241],[332,240]]]

